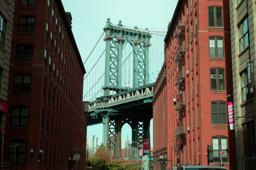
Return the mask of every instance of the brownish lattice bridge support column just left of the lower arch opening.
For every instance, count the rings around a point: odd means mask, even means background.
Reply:
[[[122,130],[122,122],[121,119],[118,118],[116,120],[116,136],[117,136],[117,143],[116,143],[116,153],[115,158],[122,158],[122,143],[121,143],[121,130]]]

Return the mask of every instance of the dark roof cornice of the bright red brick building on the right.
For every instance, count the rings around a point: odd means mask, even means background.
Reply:
[[[185,3],[185,0],[179,0],[178,3],[177,3],[177,6],[176,6],[175,11],[173,13],[171,22],[169,22],[169,24],[168,24],[167,34],[166,34],[165,39],[164,39],[166,44],[168,43],[173,31],[175,30],[174,27],[175,27],[175,25],[176,25],[176,23],[179,19],[181,9],[182,9],[184,3]]]

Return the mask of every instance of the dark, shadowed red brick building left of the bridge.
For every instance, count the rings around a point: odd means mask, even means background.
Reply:
[[[71,21],[61,0],[15,1],[3,162],[16,169],[75,169],[73,147],[85,168],[86,71]]]

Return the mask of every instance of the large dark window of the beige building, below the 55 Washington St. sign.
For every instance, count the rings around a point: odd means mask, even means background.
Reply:
[[[254,133],[254,122],[248,122],[243,125],[243,136],[244,136],[244,154],[250,155],[255,154],[255,133]]]

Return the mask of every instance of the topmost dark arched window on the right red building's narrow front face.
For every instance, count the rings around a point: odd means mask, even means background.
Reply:
[[[221,7],[209,7],[208,8],[208,20],[210,27],[222,27],[222,8]]]

